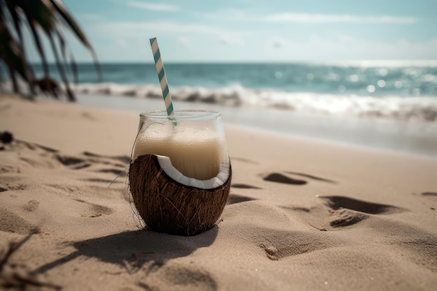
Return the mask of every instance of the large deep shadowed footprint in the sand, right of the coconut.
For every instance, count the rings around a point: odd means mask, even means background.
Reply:
[[[323,196],[327,206],[330,208],[332,227],[345,227],[354,225],[366,218],[369,214],[394,214],[406,211],[405,209],[392,205],[366,202],[343,196]]]

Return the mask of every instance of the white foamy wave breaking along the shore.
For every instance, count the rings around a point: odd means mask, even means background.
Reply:
[[[133,98],[162,98],[161,89],[153,85],[78,84],[81,94],[103,94]],[[274,89],[246,89],[239,84],[221,88],[173,87],[172,99],[184,102],[211,103],[232,107],[269,107],[295,112],[376,117],[404,121],[437,122],[435,96],[358,96],[355,94],[319,94]]]

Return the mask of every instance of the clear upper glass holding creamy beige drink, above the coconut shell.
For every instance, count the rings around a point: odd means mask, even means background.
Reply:
[[[145,154],[168,156],[188,178],[207,180],[229,167],[221,113],[213,110],[142,112],[133,160]]]

